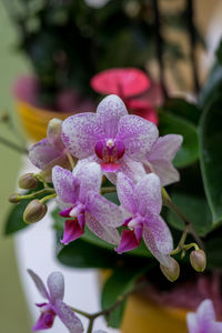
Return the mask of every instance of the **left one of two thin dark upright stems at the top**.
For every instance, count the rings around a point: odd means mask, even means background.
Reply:
[[[157,48],[157,57],[159,62],[159,71],[160,71],[160,84],[162,88],[162,92],[164,98],[168,98],[168,90],[164,80],[164,61],[163,61],[163,38],[161,33],[161,17],[159,9],[159,0],[152,0],[153,3],[153,12],[154,12],[154,29],[155,29],[155,48]]]

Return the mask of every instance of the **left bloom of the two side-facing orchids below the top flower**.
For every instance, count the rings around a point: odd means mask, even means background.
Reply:
[[[73,172],[54,167],[52,182],[60,205],[65,208],[61,216],[65,221],[62,243],[68,244],[84,233],[84,225],[102,240],[117,244],[119,233],[115,229],[122,221],[122,210],[99,194],[101,168],[92,162],[84,168],[75,167]]]

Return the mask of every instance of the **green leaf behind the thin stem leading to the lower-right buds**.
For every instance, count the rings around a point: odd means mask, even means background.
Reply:
[[[196,193],[173,192],[171,194],[172,201],[185,214],[185,216],[193,223],[196,232],[203,236],[212,228],[212,216],[205,198]],[[171,210],[168,213],[168,222],[174,228],[183,231],[184,223]]]

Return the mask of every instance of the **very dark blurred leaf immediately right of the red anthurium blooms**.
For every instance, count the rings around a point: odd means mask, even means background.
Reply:
[[[201,111],[198,105],[190,103],[186,100],[181,98],[169,99],[161,109],[170,112],[171,114],[179,115],[192,122],[194,125],[199,124]]]

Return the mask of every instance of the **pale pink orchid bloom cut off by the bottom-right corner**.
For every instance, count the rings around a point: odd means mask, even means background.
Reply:
[[[188,313],[186,323],[189,333],[222,332],[222,322],[216,322],[213,303],[208,299],[199,305],[196,313]]]

